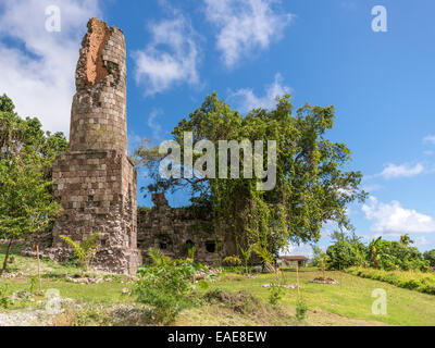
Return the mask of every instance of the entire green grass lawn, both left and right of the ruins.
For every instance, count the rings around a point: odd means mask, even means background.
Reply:
[[[29,276],[36,275],[36,260],[21,257],[20,248],[14,248],[14,262],[10,265],[13,278],[0,277],[0,286],[8,284],[11,291],[30,288]],[[2,262],[4,247],[0,247]],[[123,289],[132,289],[134,279],[127,276],[95,274],[103,278],[99,284],[77,284],[66,279],[66,275],[79,273],[75,268],[65,266],[54,261],[42,260],[42,289],[59,289],[63,298],[71,298],[79,303],[114,303],[134,304],[135,298],[123,294]],[[204,304],[182,312],[177,325],[435,325],[435,296],[403,289],[394,285],[358,277],[339,272],[327,272],[327,276],[339,281],[340,285],[313,284],[311,279],[321,276],[315,269],[299,272],[301,294],[308,304],[308,318],[299,323],[295,319],[297,289],[285,289],[278,308],[268,303],[269,288],[262,287],[274,281],[271,274],[258,277],[245,277],[232,273],[223,273],[212,283],[210,289],[222,288],[236,294],[240,290],[253,295],[260,300],[258,313],[240,313],[229,307]],[[295,270],[286,269],[284,278],[287,284],[296,284]],[[387,315],[372,313],[374,289],[382,288],[387,294]],[[16,311],[23,307],[34,306],[35,301],[44,301],[44,296],[35,296],[34,303],[17,302],[8,310],[0,307],[1,312]]]

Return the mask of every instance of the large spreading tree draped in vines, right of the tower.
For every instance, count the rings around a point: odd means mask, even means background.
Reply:
[[[245,259],[256,252],[273,260],[289,240],[316,241],[326,222],[350,227],[347,204],[365,198],[359,189],[361,173],[345,170],[351,160],[350,150],[325,137],[334,119],[334,107],[304,104],[295,112],[289,96],[277,99],[274,110],[256,109],[244,116],[213,94],[172,132],[182,156],[187,150],[186,132],[192,133],[194,144],[210,140],[216,149],[220,140],[276,140],[276,185],[272,190],[258,190],[262,179],[244,175],[231,179],[164,178],[159,175],[159,165],[165,154],[160,154],[158,148],[145,144],[136,156],[153,179],[148,190],[188,190],[195,208],[211,212],[217,238],[223,233],[234,234]],[[266,159],[268,149],[263,151]],[[203,153],[194,152],[194,158]],[[216,153],[216,173],[220,156]],[[240,153],[240,173],[248,159]],[[187,170],[185,164],[181,166]]]

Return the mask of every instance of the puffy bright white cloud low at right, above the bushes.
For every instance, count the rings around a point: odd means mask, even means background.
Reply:
[[[368,220],[374,222],[371,231],[381,235],[435,232],[435,220],[432,216],[405,209],[398,201],[383,203],[371,196],[368,203],[362,206],[362,211]]]

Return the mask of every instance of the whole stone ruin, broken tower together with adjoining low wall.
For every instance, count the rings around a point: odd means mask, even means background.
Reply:
[[[154,207],[137,209],[136,170],[127,153],[126,50],[123,32],[97,18],[88,23],[75,75],[70,149],[53,163],[54,198],[61,216],[44,239],[45,254],[65,261],[71,250],[60,237],[76,243],[99,232],[91,266],[134,274],[150,247],[170,257],[216,262],[236,252],[234,240],[217,240],[208,219],[188,208],[171,208],[163,195]],[[217,252],[220,251],[220,252]]]

